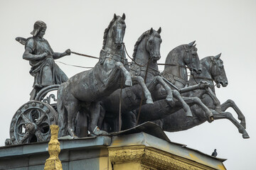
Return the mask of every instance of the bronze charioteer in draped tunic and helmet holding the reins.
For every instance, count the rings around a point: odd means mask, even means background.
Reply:
[[[53,84],[62,84],[68,80],[66,74],[55,64],[54,60],[70,55],[70,50],[65,52],[53,52],[48,41],[43,38],[46,33],[46,23],[43,21],[36,21],[33,26],[31,34],[33,37],[26,39],[25,52],[23,54],[24,60],[29,60],[31,65],[30,74],[35,77],[33,83],[33,90],[31,91],[31,100],[36,98],[38,91],[43,87]],[[17,39],[19,42],[23,41]],[[22,43],[22,42],[21,42]]]

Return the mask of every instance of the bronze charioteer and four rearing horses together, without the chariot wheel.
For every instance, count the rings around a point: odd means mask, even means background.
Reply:
[[[34,77],[31,102],[42,89],[60,84],[54,118],[60,126],[60,137],[86,137],[88,131],[90,135],[107,135],[146,121],[156,123],[164,131],[176,132],[225,118],[238,128],[243,138],[249,138],[245,116],[234,101],[221,104],[215,96],[215,86],[228,85],[221,54],[199,60],[195,41],[179,45],[169,52],[164,71],[159,72],[161,28],[151,28],[138,38],[129,63],[123,42],[125,17],[124,14],[114,14],[105,29],[103,47],[95,67],[69,79],[54,60],[70,55],[70,50],[53,52],[43,38],[46,23],[34,23],[33,37],[16,38],[25,45],[23,59],[31,64],[30,74]],[[238,114],[240,123],[226,112],[229,107]],[[25,124],[23,120],[23,126]],[[18,131],[18,126],[15,130]],[[31,137],[16,137],[15,140],[28,142]]]

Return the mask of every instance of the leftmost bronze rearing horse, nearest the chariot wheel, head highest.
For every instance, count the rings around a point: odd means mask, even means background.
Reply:
[[[126,28],[124,20],[124,14],[122,17],[114,14],[110,25],[105,29],[100,60],[95,67],[75,74],[60,85],[57,101],[60,136],[69,134],[72,137],[77,137],[75,135],[75,118],[82,108],[90,110],[93,122],[89,127],[90,132],[102,132],[97,130],[97,127],[93,127],[100,117],[97,113],[97,102],[112,94],[121,85],[132,86],[132,77],[127,71],[128,62],[124,55],[123,38]],[[125,79],[124,83],[122,77]],[[142,86],[142,89],[144,88],[146,85]],[[145,98],[149,98],[151,101],[148,89],[144,89],[144,91]]]

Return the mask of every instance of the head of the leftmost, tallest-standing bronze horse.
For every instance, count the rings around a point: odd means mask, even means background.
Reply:
[[[105,49],[106,46],[112,48],[112,45],[117,47],[117,49],[121,49],[122,44],[124,43],[123,39],[124,39],[124,33],[126,28],[126,24],[124,20],[125,20],[124,13],[122,17],[117,16],[114,13],[114,18],[110,22],[110,25],[105,29],[102,49]]]

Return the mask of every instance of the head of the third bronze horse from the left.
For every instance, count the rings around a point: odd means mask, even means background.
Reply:
[[[193,41],[188,43],[188,45],[183,45],[185,49],[183,61],[188,69],[190,69],[191,74],[194,74],[194,72],[201,74],[202,68],[198,57],[196,44],[194,45],[195,42],[196,41]]]

